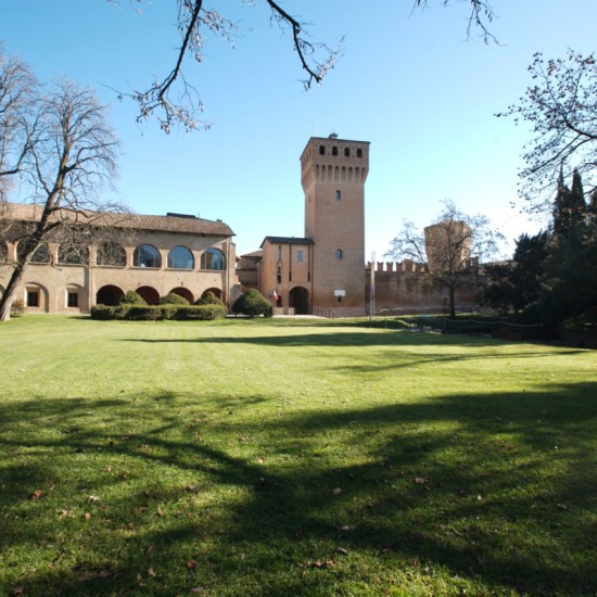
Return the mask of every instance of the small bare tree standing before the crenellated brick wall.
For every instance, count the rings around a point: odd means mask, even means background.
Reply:
[[[486,216],[468,216],[452,201],[445,201],[434,224],[424,230],[405,221],[384,256],[422,264],[427,276],[447,290],[449,315],[454,317],[459,284],[475,274],[481,261],[496,255],[503,240],[500,232],[492,230]]]

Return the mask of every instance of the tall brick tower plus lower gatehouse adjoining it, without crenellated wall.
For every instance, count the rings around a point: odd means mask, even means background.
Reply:
[[[301,155],[305,236],[266,237],[237,272],[277,313],[365,315],[365,181],[369,142],[312,137]]]

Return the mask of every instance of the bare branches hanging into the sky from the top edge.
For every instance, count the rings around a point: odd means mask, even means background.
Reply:
[[[117,2],[118,0],[109,0]],[[130,0],[141,4],[145,0]],[[309,89],[319,84],[332,69],[343,53],[343,39],[333,47],[310,39],[308,26],[304,21],[293,16],[274,0],[239,0],[244,4],[266,4],[270,22],[278,26],[284,37],[290,39],[291,47],[298,58],[304,73],[303,85]],[[427,8],[433,2],[448,5],[455,0],[414,0],[414,10]],[[487,42],[495,40],[490,31],[494,11],[488,0],[466,0],[470,3],[467,34],[480,31]],[[211,123],[201,119],[203,103],[196,88],[185,74],[186,59],[192,56],[195,62],[203,60],[203,42],[211,33],[230,41],[239,31],[239,25],[224,16],[217,10],[206,8],[204,0],[177,0],[178,15],[176,24],[180,35],[180,47],[177,49],[172,71],[162,79],[152,82],[147,89],[120,91],[120,98],[132,99],[139,105],[138,120],[154,117],[165,132],[180,125],[187,130],[207,129]]]

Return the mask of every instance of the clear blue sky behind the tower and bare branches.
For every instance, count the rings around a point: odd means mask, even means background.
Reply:
[[[238,254],[268,234],[303,236],[298,157],[309,137],[331,132],[371,142],[366,259],[381,261],[404,219],[425,226],[446,199],[487,215],[510,240],[537,229],[517,196],[530,131],[494,114],[523,94],[534,52],[595,51],[596,0],[494,0],[499,46],[467,40],[468,2],[458,0],[416,12],[411,0],[285,1],[313,24],[314,40],[345,36],[342,60],[308,92],[290,40],[255,3],[214,3],[243,31],[233,47],[208,38],[203,64],[187,68],[208,131],[137,125],[135,105],[113,91],[169,72],[174,0],[141,12],[129,0],[2,0],[0,39],[40,78],[66,76],[111,106],[123,149],[116,193],[135,212],[223,219]]]

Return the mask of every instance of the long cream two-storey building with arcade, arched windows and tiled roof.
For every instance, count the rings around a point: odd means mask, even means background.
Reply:
[[[9,204],[0,238],[0,293],[39,218],[35,205]],[[64,211],[54,217],[75,217]],[[88,313],[115,305],[129,290],[148,304],[175,293],[190,303],[207,291],[229,304],[239,292],[233,232],[223,221],[193,216],[93,214],[50,233],[25,268],[15,295],[29,313]],[[75,232],[74,234],[71,232]]]

